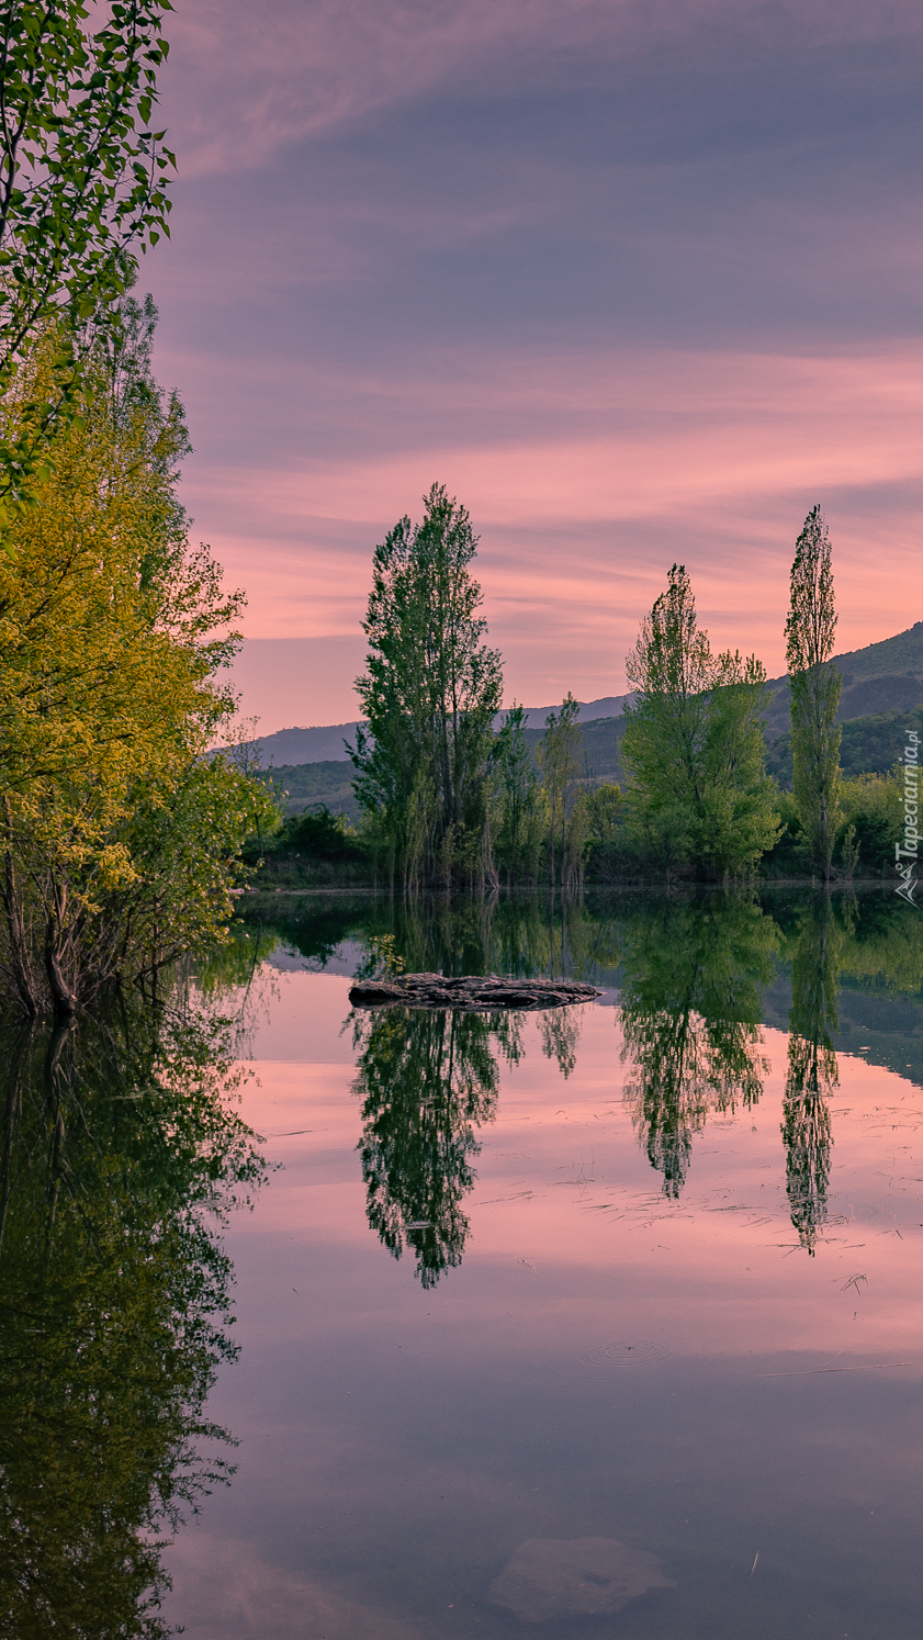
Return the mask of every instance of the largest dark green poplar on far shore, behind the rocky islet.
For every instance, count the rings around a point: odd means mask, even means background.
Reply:
[[[434,484],[375,548],[356,690],[367,718],[348,753],[359,804],[384,831],[405,891],[421,877],[482,872],[487,764],[502,667],[482,641],[477,536]]]

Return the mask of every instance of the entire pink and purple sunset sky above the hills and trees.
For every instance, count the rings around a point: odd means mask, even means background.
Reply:
[[[143,274],[193,533],[248,636],[326,640],[262,651],[264,730],[356,715],[371,554],[433,481],[508,699],[621,692],[674,559],[780,672],[815,502],[839,648],[918,618],[921,34],[905,5],[177,13]]]

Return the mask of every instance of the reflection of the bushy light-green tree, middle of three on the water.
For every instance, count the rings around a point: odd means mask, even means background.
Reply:
[[[659,900],[628,923],[625,1097],[666,1196],[680,1194],[708,1112],[761,1097],[761,1000],[775,948],[775,923],[746,895]]]

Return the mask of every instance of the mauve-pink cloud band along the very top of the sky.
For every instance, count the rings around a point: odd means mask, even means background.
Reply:
[[[582,84],[605,62],[731,33],[757,49],[920,36],[905,0],[189,0],[169,20],[164,108],[184,175],[264,166],[280,148],[461,84]]]

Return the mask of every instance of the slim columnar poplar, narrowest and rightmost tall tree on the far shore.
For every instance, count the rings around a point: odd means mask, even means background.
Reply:
[[[843,679],[831,666],[836,633],[830,531],[813,507],[795,543],[785,664],[792,690],[792,790],[812,864],[830,881],[839,825],[839,723]]]

